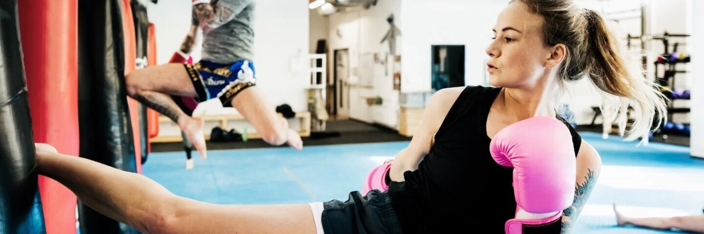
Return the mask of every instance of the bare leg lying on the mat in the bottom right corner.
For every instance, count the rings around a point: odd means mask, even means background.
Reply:
[[[677,228],[697,233],[704,233],[704,215],[697,216],[674,216],[663,218],[631,218],[624,216],[617,211],[614,204],[614,212],[616,214],[616,222],[618,226],[638,226],[643,228],[653,228],[660,230],[670,230]]]

